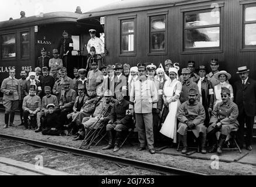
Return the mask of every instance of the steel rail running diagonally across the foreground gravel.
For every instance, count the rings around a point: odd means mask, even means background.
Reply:
[[[11,136],[8,134],[0,133],[0,138],[5,138],[8,140],[14,140],[14,141],[20,141],[22,143],[26,143],[31,146],[45,147],[45,148],[49,148],[49,150],[60,151],[63,153],[71,153],[71,154],[80,155],[80,156],[84,156],[84,157],[93,157],[93,158],[100,158],[100,159],[113,161],[113,162],[119,162],[120,164],[123,164],[123,165],[131,165],[132,167],[141,168],[141,169],[150,169],[152,171],[162,172],[165,174],[206,175],[206,174],[201,174],[198,172],[187,171],[185,169],[178,169],[178,168],[173,168],[173,167],[167,167],[164,165],[153,164],[150,162],[132,160],[129,158],[122,158],[122,157],[117,157],[114,155],[108,155],[108,154],[103,154],[103,153],[96,153],[93,151],[81,150],[78,148],[66,147],[66,146],[61,146],[61,145],[57,145],[57,144],[53,144],[53,143],[47,143],[45,141],[38,141],[38,140],[29,139],[29,138]]]

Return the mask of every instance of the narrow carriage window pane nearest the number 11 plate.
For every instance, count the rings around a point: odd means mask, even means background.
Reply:
[[[135,21],[121,20],[121,53],[134,52],[135,47]]]

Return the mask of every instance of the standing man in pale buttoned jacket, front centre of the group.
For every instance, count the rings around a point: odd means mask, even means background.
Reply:
[[[129,109],[131,113],[135,112],[136,127],[140,148],[139,151],[146,149],[148,143],[149,152],[155,154],[153,140],[153,103],[158,102],[158,91],[155,83],[146,78],[145,64],[138,64],[139,80],[135,81],[131,87]]]

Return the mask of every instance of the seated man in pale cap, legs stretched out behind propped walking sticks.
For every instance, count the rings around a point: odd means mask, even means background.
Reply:
[[[108,106],[110,106],[111,95],[112,93],[110,93],[110,91],[106,91],[104,96],[98,99],[98,102],[95,103],[95,110],[93,115],[83,118],[82,124],[80,125],[79,135],[73,140],[83,140],[91,128],[97,129],[100,123],[104,121],[104,118],[101,119],[101,117],[103,117],[104,112],[106,112],[106,110],[109,108]],[[84,131],[84,129],[86,131]]]

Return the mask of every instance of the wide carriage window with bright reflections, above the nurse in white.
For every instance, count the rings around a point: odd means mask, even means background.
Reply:
[[[184,18],[185,49],[220,48],[220,10],[186,12]]]

